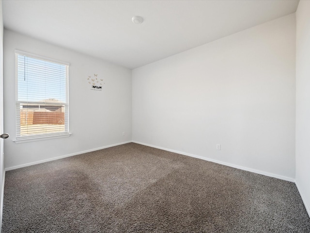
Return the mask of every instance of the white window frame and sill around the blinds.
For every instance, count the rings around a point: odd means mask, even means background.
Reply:
[[[20,104],[25,103],[26,101],[19,101],[18,100],[18,55],[27,56],[39,60],[44,60],[47,62],[57,63],[63,66],[66,66],[66,87],[65,87],[65,98],[66,102],[64,103],[65,107],[65,124],[64,124],[64,131],[62,132],[55,132],[55,133],[40,133],[40,134],[32,134],[32,135],[20,135],[21,123],[20,123]],[[15,57],[16,57],[16,101],[15,101],[15,108],[16,108],[16,140],[13,140],[15,143],[23,143],[23,142],[31,142],[31,141],[40,141],[40,140],[47,140],[53,138],[62,138],[62,137],[69,137],[71,133],[69,133],[69,66],[70,63],[63,62],[51,58],[47,58],[44,56],[32,54],[29,52],[24,52],[20,50],[15,50]],[[40,103],[39,101],[31,101],[31,103]],[[17,108],[18,107],[18,108]],[[19,129],[19,130],[18,130]]]

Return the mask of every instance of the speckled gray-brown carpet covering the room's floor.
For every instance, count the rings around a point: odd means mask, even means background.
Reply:
[[[129,143],[7,171],[2,233],[310,233],[294,183]]]

